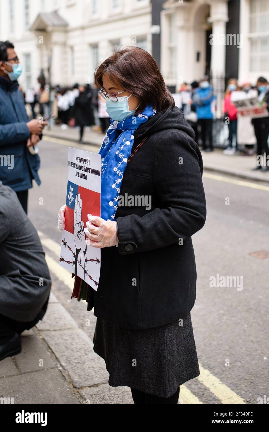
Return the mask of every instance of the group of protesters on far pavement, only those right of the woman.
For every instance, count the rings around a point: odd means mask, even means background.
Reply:
[[[240,121],[241,130],[248,130],[248,142],[241,139],[241,144],[256,144],[258,155],[266,154],[269,156],[268,136],[269,136],[269,117],[261,118],[242,118],[238,116],[237,108],[233,103],[232,93],[243,92],[244,97],[258,97],[259,103],[266,105],[269,111],[269,84],[266,78],[260,76],[256,85],[251,86],[246,82],[242,86],[238,85],[237,79],[228,80],[225,90],[222,114],[223,121],[228,125],[228,145],[224,150],[225,155],[235,155],[238,149],[238,122]],[[209,76],[203,76],[199,82],[194,81],[190,85],[183,83],[178,94],[174,95],[176,105],[182,109],[186,121],[194,129],[196,141],[201,145],[201,149],[206,152],[213,151],[213,118],[216,112],[216,95],[213,86],[210,85]],[[242,95],[242,98],[244,98]],[[251,126],[252,125],[252,126]],[[249,137],[252,136],[252,141]],[[242,142],[243,141],[243,142]],[[268,171],[269,167],[257,165],[253,169]]]

